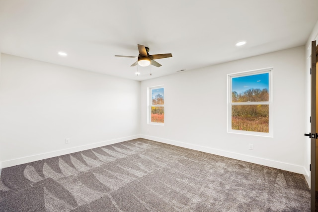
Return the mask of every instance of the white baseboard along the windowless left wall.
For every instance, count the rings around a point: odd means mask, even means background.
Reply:
[[[56,156],[60,156],[60,155],[66,155],[66,154],[70,154],[70,153],[74,153],[74,152],[79,152],[79,151],[83,151],[83,150],[87,150],[87,149],[106,146],[106,145],[110,145],[110,144],[114,144],[114,143],[119,143],[119,142],[128,141],[128,140],[132,140],[132,139],[137,139],[137,138],[140,138],[140,135],[132,135],[132,136],[127,136],[127,137],[116,138],[116,139],[112,139],[112,140],[101,141],[101,142],[97,142],[97,143],[91,143],[91,144],[87,144],[87,145],[72,147],[72,148],[68,148],[68,149],[61,149],[61,150],[57,150],[57,151],[46,152],[46,153],[41,153],[41,154],[37,154],[37,155],[30,155],[30,156],[16,158],[16,159],[12,159],[12,160],[0,161],[0,165],[1,165],[0,168],[6,168],[6,167],[20,165],[20,164],[24,164],[24,163],[29,163],[29,162],[33,162],[33,161],[37,161],[37,160],[43,160],[43,159],[47,159],[47,158],[51,158],[51,157],[56,157]]]

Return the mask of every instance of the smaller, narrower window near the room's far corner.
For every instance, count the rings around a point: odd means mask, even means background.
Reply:
[[[164,123],[164,88],[149,88],[148,123],[163,125]]]

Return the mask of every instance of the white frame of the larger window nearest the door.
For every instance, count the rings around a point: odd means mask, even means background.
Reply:
[[[265,74],[268,73],[268,102],[245,102],[245,103],[232,103],[232,78],[234,77],[244,77],[251,76],[257,74]],[[227,126],[229,133],[236,134],[245,134],[245,135],[256,135],[263,137],[273,137],[273,67],[257,69],[252,71],[244,71],[239,73],[228,74],[228,118],[227,118]],[[232,129],[232,106],[235,105],[268,105],[268,133],[267,132],[253,132],[253,131],[244,131],[244,130],[236,130]]]

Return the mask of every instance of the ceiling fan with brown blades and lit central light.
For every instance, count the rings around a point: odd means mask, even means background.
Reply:
[[[156,67],[160,67],[161,64],[155,61],[155,59],[161,59],[161,58],[167,58],[167,57],[172,57],[172,54],[154,54],[150,55],[149,54],[149,48],[138,44],[138,51],[139,55],[138,57],[136,56],[124,56],[124,55],[115,55],[115,57],[132,57],[132,58],[138,58],[138,60],[131,66],[136,66],[139,64],[140,66],[149,66],[150,64]]]

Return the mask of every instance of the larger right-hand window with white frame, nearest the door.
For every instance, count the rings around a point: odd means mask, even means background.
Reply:
[[[228,75],[228,132],[273,135],[272,69]]]

